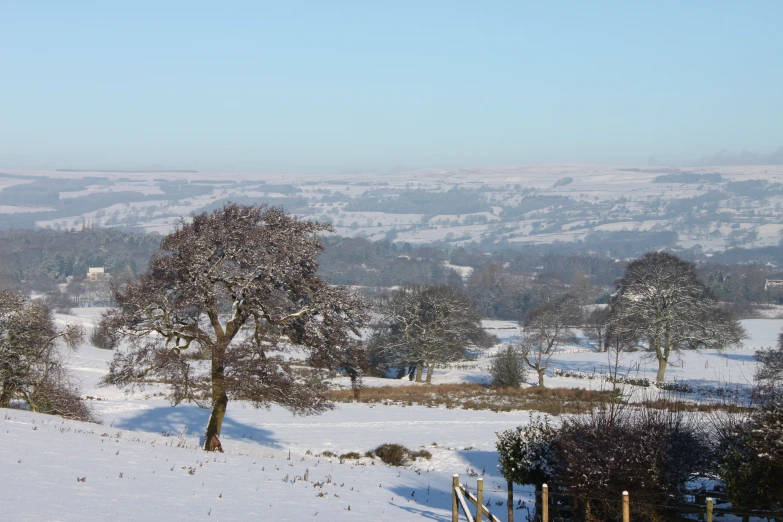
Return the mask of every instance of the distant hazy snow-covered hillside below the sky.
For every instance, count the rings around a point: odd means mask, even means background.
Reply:
[[[297,177],[6,173],[28,177],[0,172],[0,217],[23,213],[31,221],[20,223],[60,229],[167,233],[180,217],[234,200],[281,204],[331,221],[344,236],[411,243],[589,242],[612,232],[668,231],[680,247],[717,251],[775,245],[783,233],[783,166],[549,165]]]

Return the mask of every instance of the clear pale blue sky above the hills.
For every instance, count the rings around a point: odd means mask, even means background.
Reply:
[[[0,167],[691,162],[783,145],[783,1],[0,0]]]

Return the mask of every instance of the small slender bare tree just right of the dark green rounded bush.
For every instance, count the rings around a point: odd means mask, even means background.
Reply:
[[[544,372],[558,347],[576,340],[572,326],[581,322],[581,316],[579,304],[570,294],[553,299],[528,314],[517,346],[525,363],[538,374],[539,386],[544,386]]]

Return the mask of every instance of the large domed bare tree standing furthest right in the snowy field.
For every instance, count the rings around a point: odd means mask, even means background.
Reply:
[[[666,252],[648,252],[628,265],[611,302],[609,324],[618,337],[646,341],[658,361],[657,381],[664,380],[673,352],[721,349],[745,336],[696,276],[694,265]]]

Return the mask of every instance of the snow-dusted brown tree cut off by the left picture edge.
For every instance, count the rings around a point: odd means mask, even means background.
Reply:
[[[82,338],[78,326],[56,328],[42,301],[0,289],[0,408],[22,401],[32,411],[93,420],[57,351],[59,341],[76,348]]]

